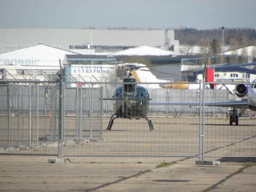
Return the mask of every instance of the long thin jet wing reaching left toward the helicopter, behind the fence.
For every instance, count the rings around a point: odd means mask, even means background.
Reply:
[[[149,103],[149,105],[199,105],[198,103]],[[215,106],[215,107],[230,107],[230,108],[244,108],[249,109],[248,100],[242,101],[223,101],[223,102],[205,102],[205,106]]]

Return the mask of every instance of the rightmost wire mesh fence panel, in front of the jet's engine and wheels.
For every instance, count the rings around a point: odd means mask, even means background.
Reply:
[[[207,83],[206,83],[207,84]],[[247,92],[239,98],[235,92],[244,92],[245,89],[237,89],[236,85],[246,85]],[[255,84],[255,83],[254,83]],[[228,98],[223,101],[234,102],[229,104],[225,116],[218,112],[220,107],[215,107],[215,115],[204,114],[204,154],[205,156],[256,156],[256,119],[255,107],[256,87],[253,83],[229,83]],[[216,84],[217,85],[217,84]],[[254,88],[255,87],[255,88]],[[216,92],[219,90],[211,90]],[[203,92],[203,90],[202,90]],[[215,98],[220,98],[216,94]],[[204,98],[209,100],[212,95],[204,90]],[[238,105],[238,102],[241,102]],[[207,101],[205,101],[207,102]],[[237,102],[237,104],[235,104]],[[233,107],[231,107],[233,106]],[[205,106],[205,109],[208,107]],[[237,109],[238,108],[238,109]],[[205,110],[207,111],[207,110]],[[232,121],[232,122],[231,122]]]

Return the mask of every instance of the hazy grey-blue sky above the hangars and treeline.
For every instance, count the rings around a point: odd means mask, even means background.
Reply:
[[[256,28],[256,0],[0,0],[1,28]]]

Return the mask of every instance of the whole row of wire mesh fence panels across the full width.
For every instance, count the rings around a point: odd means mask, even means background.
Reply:
[[[233,108],[213,105],[253,99],[232,90],[138,83],[124,97],[122,83],[63,84],[63,94],[35,83],[0,85],[1,153],[56,155],[62,135],[62,156],[256,156],[254,112],[238,110],[229,125]]]

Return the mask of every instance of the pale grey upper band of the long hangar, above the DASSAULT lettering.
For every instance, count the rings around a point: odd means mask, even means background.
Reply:
[[[121,30],[83,28],[0,28],[4,42],[24,44],[28,42],[93,46],[165,46],[179,44],[174,40],[174,30]]]

